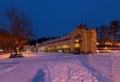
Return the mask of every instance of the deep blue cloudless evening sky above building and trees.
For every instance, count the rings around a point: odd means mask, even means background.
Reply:
[[[68,34],[81,22],[96,27],[120,20],[120,0],[0,0],[0,12],[13,4],[31,17],[37,37]]]

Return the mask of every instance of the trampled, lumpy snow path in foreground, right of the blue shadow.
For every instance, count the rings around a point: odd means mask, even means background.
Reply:
[[[99,82],[78,60],[59,60],[47,65],[52,82]]]

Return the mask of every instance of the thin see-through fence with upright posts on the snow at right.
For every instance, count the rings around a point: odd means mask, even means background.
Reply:
[[[89,55],[90,65],[113,82],[120,82],[120,56],[101,53]]]

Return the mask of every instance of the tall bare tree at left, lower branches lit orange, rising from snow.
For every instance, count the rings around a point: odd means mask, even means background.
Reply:
[[[11,43],[11,48],[14,50],[15,54],[18,54],[19,49],[32,35],[30,30],[31,21],[23,11],[16,9],[16,7],[5,10],[4,17],[4,24],[9,34],[8,44]]]

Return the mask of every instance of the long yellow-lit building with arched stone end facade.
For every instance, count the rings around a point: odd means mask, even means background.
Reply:
[[[85,24],[76,27],[70,35],[45,41],[39,45],[41,52],[96,53],[96,31],[87,30]]]

